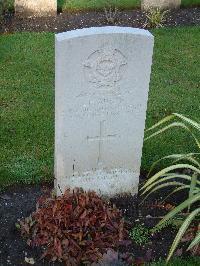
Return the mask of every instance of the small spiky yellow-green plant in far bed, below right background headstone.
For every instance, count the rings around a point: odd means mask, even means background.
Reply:
[[[144,28],[160,28],[166,20],[168,10],[161,10],[159,8],[149,8],[145,12],[146,22]]]

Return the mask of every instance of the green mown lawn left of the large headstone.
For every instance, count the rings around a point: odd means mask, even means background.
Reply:
[[[53,34],[0,37],[0,184],[53,176]]]

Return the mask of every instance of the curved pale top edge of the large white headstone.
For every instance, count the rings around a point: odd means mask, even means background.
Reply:
[[[105,27],[91,27],[76,29],[71,31],[66,31],[62,33],[55,34],[56,41],[64,41],[68,39],[74,39],[77,37],[92,36],[92,35],[101,35],[101,34],[133,34],[146,36],[151,39],[154,39],[154,36],[148,31],[139,28],[132,27],[119,27],[119,26],[105,26]]]

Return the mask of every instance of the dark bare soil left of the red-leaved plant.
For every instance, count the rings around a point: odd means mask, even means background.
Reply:
[[[26,244],[15,225],[18,219],[35,210],[36,201],[44,190],[40,186],[20,186],[0,194],[0,265],[25,265],[25,257],[36,258],[38,266],[45,265],[38,260],[40,251]]]

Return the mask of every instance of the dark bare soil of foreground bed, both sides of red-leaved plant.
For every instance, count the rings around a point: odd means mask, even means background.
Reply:
[[[52,186],[51,186],[52,187]],[[35,210],[37,199],[50,189],[49,185],[15,186],[0,193],[0,265],[26,265],[25,257],[34,258],[35,265],[62,265],[61,263],[49,263],[40,261],[41,251],[31,248],[20,236],[15,224],[18,219],[27,217]],[[180,199],[183,195],[178,195]],[[183,198],[181,199],[183,200]],[[167,211],[155,208],[155,199],[148,200],[142,206],[136,197],[121,197],[111,200],[116,204],[129,221],[130,228],[137,223],[144,223],[152,228],[158,221],[156,217],[163,216]],[[179,202],[177,197],[171,199],[170,204]],[[157,204],[157,203],[156,203]],[[122,246],[121,252],[130,252],[134,259],[157,260],[166,257],[169,247],[175,236],[175,231],[168,227],[162,233],[155,234],[145,247],[132,243],[130,246]]]

